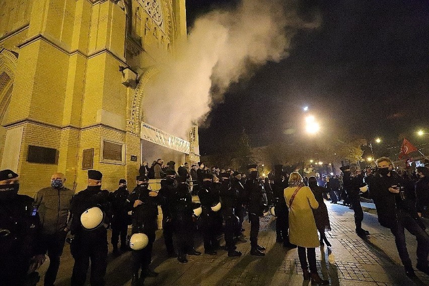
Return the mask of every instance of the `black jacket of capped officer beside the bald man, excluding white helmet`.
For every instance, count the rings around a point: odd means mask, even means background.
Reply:
[[[70,233],[76,236],[84,236],[87,239],[93,240],[107,240],[107,229],[105,227],[99,227],[95,230],[86,230],[81,223],[81,215],[85,210],[91,207],[99,207],[105,213],[104,226],[109,225],[109,218],[111,218],[110,208],[110,194],[107,190],[101,190],[100,188],[90,187],[77,193],[72,200],[70,205],[70,213],[73,218],[72,227]]]

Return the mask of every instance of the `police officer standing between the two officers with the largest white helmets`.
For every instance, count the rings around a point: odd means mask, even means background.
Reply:
[[[121,238],[121,250],[127,250],[126,235],[128,232],[127,199],[129,192],[126,180],[119,180],[119,187],[111,194],[112,199],[112,245],[113,253],[118,253],[119,237]]]

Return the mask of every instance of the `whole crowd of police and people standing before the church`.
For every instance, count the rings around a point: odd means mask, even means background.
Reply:
[[[365,238],[361,194],[369,193],[377,208],[380,224],[395,237],[405,273],[414,277],[413,265],[405,244],[404,230],[417,240],[416,268],[429,274],[429,236],[421,217],[429,206],[429,169],[417,167],[415,175],[398,174],[389,158],[377,160],[377,169],[360,172],[341,167],[340,177],[289,174],[282,165],[261,178],[256,164],[246,174],[231,169],[207,168],[202,162],[166,166],[159,159],[151,167],[144,162],[129,192],[127,181],[119,180],[114,192],[102,190],[101,172],[88,171],[88,186],[74,193],[64,186],[61,173],[51,177],[51,186],[35,198],[18,194],[19,176],[11,170],[0,171],[0,271],[6,285],[36,285],[44,273],[44,284],[53,285],[67,234],[75,260],[72,285],[84,285],[91,261],[91,284],[104,285],[107,268],[107,229],[112,229],[113,254],[131,250],[131,284],[142,285],[146,277],[158,275],[150,264],[158,229],[158,206],[162,209],[162,229],[169,258],[188,262],[195,250],[194,235],[203,236],[204,254],[225,250],[238,257],[238,241],[247,242],[243,221],[250,222],[250,255],[264,256],[258,244],[259,220],[271,213],[276,217],[276,242],[287,249],[298,248],[304,280],[327,285],[317,273],[317,247],[331,246],[325,235],[330,231],[327,194],[331,203],[346,199],[354,211],[355,232]],[[161,179],[161,188],[152,190],[151,178]],[[341,195],[341,188],[346,194]],[[197,200],[192,198],[197,196]],[[195,198],[195,197],[194,197]],[[131,234],[128,235],[128,226]],[[319,232],[319,235],[318,235]],[[224,235],[225,246],[220,246]],[[118,247],[120,243],[120,247]],[[44,268],[44,270],[42,270]]]

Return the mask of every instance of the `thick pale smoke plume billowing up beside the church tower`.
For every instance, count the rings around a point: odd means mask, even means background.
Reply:
[[[186,43],[148,88],[146,121],[186,139],[192,122],[203,122],[232,83],[267,61],[287,57],[296,31],[318,25],[303,22],[295,5],[243,0],[232,11],[198,18]]]

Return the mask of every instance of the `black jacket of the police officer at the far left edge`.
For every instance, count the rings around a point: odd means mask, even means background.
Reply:
[[[0,200],[0,229],[10,232],[0,239],[2,285],[20,284],[27,275],[30,259],[36,254],[44,254],[39,244],[39,215],[33,203],[27,195]]]

